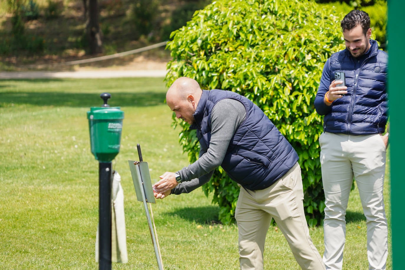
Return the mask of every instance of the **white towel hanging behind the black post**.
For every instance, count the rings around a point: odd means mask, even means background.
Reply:
[[[111,185],[111,261],[128,262],[124,213],[124,190],[121,186],[121,176],[113,172]],[[98,226],[96,235],[96,262],[98,262]]]

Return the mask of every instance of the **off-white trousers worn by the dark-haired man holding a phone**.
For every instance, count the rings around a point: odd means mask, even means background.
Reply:
[[[388,228],[383,186],[386,147],[379,134],[346,135],[324,132],[321,146],[325,192],[323,260],[326,269],[342,269],[346,236],[346,208],[353,178],[367,219],[369,269],[386,269]]]

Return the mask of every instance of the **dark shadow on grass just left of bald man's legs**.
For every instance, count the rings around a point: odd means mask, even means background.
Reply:
[[[200,224],[220,223],[218,215],[220,208],[218,206],[202,206],[202,207],[185,207],[179,208],[165,215],[177,216],[188,221],[195,221]]]

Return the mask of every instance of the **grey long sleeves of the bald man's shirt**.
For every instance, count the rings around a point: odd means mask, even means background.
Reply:
[[[229,142],[245,119],[246,109],[237,100],[219,101],[211,112],[211,140],[207,152],[200,151],[199,159],[177,173],[181,183],[172,189],[173,194],[189,193],[204,185],[224,160]]]

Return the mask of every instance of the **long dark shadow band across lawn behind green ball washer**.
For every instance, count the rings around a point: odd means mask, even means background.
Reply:
[[[102,91],[100,91],[101,93]],[[109,93],[111,94],[111,99],[108,100],[108,104],[112,107],[162,105],[166,98],[166,93],[155,92]],[[103,104],[100,94],[8,91],[1,93],[1,102],[34,106],[99,107]]]

